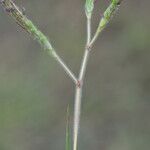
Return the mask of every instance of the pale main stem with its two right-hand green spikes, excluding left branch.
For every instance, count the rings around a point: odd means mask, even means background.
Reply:
[[[87,16],[87,43],[85,47],[85,52],[83,56],[83,61],[81,64],[81,69],[79,73],[79,85],[76,86],[76,93],[75,93],[75,104],[74,104],[74,127],[73,127],[73,150],[77,150],[78,145],[78,133],[80,127],[80,114],[81,114],[81,99],[82,99],[82,89],[83,89],[83,82],[85,78],[87,63],[89,59],[89,54],[93,44],[95,43],[96,39],[98,38],[99,34],[103,31],[103,29],[109,23],[111,17],[113,16],[114,12],[117,10],[118,6],[122,0],[111,0],[110,5],[105,10],[103,17],[101,18],[98,28],[91,40],[91,16],[93,11],[93,0],[86,0],[86,16]]]

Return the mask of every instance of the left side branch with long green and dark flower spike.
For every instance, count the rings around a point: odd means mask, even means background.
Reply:
[[[12,16],[16,23],[21,26],[25,31],[27,31],[34,39],[36,39],[41,46],[60,64],[67,75],[72,79],[72,81],[77,84],[78,80],[74,73],[69,69],[69,67],[64,63],[60,56],[56,53],[55,49],[52,47],[48,38],[29,20],[24,13],[19,9],[18,6],[12,0],[1,0],[1,6],[5,11]]]

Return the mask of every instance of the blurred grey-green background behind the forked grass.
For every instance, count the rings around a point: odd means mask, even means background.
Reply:
[[[77,74],[83,0],[16,0]],[[93,32],[108,6],[96,3]],[[80,150],[150,149],[150,1],[124,0],[96,42],[83,91]],[[0,8],[0,150],[64,150],[74,85]],[[72,121],[72,117],[71,117]]]

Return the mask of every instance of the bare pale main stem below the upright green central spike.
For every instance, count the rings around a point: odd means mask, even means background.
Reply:
[[[80,113],[81,113],[81,99],[82,99],[82,89],[85,77],[85,72],[87,68],[87,62],[89,59],[90,50],[88,44],[91,40],[91,17],[87,18],[87,43],[85,46],[85,52],[83,55],[83,61],[79,73],[79,85],[76,86],[75,93],[75,104],[74,104],[74,127],[73,127],[73,150],[77,150],[78,145],[78,133],[80,124]]]

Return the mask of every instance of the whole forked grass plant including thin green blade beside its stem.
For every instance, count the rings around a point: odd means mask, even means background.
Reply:
[[[73,71],[64,63],[62,58],[57,54],[55,48],[51,45],[51,42],[44,35],[34,23],[26,17],[24,12],[12,1],[12,0],[1,0],[1,6],[9,14],[15,22],[22,27],[23,30],[27,31],[29,35],[35,39],[42,48],[53,57],[58,64],[63,68],[68,77],[73,81],[75,85],[75,99],[74,99],[74,121],[73,121],[73,146],[70,148],[70,127],[69,127],[69,107],[67,110],[67,125],[66,125],[66,150],[77,150],[78,145],[78,134],[80,126],[80,114],[81,114],[81,100],[82,100],[82,89],[84,85],[85,73],[87,70],[88,59],[92,47],[99,37],[100,33],[104,30],[107,24],[110,22],[111,18],[115,14],[116,10],[120,6],[122,0],[111,0],[109,6],[104,11],[103,15],[100,18],[97,30],[95,31],[94,36],[92,37],[91,31],[91,19],[93,15],[95,0],[86,0],[85,1],[85,14],[87,18],[87,41],[85,44],[85,51],[83,55],[83,60],[79,70],[79,76],[77,77]]]

